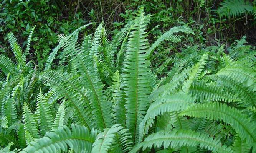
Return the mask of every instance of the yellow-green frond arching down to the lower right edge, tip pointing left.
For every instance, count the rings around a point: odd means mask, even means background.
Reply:
[[[246,139],[249,146],[255,146],[256,133],[254,132],[256,124],[250,122],[246,115],[242,114],[234,107],[228,107],[226,104],[218,102],[196,104],[180,113],[181,115],[193,117],[207,117],[213,120],[223,120],[230,124],[238,132],[242,140]]]

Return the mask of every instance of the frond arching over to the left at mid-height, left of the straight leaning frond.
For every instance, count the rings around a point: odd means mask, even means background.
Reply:
[[[82,124],[90,130],[93,127],[91,120],[91,109],[84,109],[89,106],[87,96],[83,92],[80,80],[77,75],[68,75],[68,73],[58,71],[48,71],[40,75],[40,78],[49,83],[51,88],[56,88],[59,95],[68,99],[68,106],[74,107],[77,124]]]

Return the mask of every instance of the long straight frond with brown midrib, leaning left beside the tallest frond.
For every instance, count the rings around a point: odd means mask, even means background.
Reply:
[[[80,52],[72,61],[76,63],[74,67],[81,74],[80,79],[86,83],[84,87],[88,90],[88,100],[93,109],[92,114],[96,124],[100,129],[111,127],[113,125],[111,106],[103,95],[103,84],[99,80],[91,55]]]

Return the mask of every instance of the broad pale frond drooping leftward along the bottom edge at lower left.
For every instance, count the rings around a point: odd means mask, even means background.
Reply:
[[[46,136],[30,143],[20,153],[47,152],[56,153],[68,151],[68,146],[75,152],[90,153],[94,143],[97,130],[91,132],[84,127],[72,124],[72,132],[64,126],[54,132],[46,132]]]

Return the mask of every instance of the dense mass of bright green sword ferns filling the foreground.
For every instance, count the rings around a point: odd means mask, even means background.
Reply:
[[[35,27],[25,49],[8,33],[0,151],[256,152],[256,51],[246,36],[230,47],[196,45],[182,25],[149,40],[154,16],[144,9],[113,37],[104,23],[58,35],[41,69],[27,58]]]

